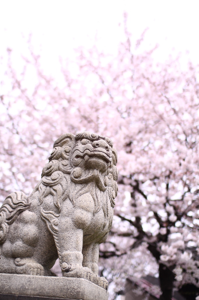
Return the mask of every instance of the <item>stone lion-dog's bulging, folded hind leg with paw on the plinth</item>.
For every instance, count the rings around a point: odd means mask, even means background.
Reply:
[[[36,214],[26,210],[10,225],[1,249],[0,272],[44,274],[43,266],[32,258],[39,240],[36,220]]]

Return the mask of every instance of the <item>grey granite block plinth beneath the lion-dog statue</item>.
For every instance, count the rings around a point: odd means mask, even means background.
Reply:
[[[108,300],[108,292],[83,278],[0,273],[1,299]]]

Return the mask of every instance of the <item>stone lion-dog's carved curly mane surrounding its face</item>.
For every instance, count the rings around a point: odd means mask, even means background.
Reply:
[[[87,132],[77,134],[76,137],[72,134],[63,134],[56,140],[54,149],[49,157],[49,163],[46,164],[42,170],[42,181],[37,185],[36,190],[39,190],[40,203],[42,203],[42,199],[51,194],[53,196],[53,203],[58,209],[58,212],[60,212],[61,203],[65,199],[69,198],[74,205],[75,200],[79,196],[88,192],[91,193],[94,199],[95,213],[102,208],[102,198],[104,196],[107,198],[107,201],[111,202],[112,207],[115,205],[114,198],[117,195],[117,169],[115,167],[117,164],[116,150],[114,148],[112,149],[111,165],[108,174],[105,176],[105,190],[100,188],[100,184],[97,184],[97,182],[102,180],[102,174],[99,170],[92,170],[92,172],[86,170],[88,174],[85,174],[84,181],[87,176],[88,182],[81,183],[79,180],[80,183],[78,183],[74,176],[74,170],[77,172],[78,168],[73,166],[71,155],[76,141],[82,138],[87,138],[89,140],[103,138],[112,146],[112,141],[110,139],[98,136],[97,134],[91,135]],[[96,181],[94,187],[93,181]]]

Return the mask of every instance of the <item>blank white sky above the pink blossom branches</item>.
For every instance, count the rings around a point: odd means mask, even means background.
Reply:
[[[70,56],[74,47],[93,45],[96,35],[103,51],[114,52],[122,38],[118,23],[128,13],[128,29],[136,40],[147,27],[144,46],[159,44],[157,60],[164,60],[174,48],[189,51],[199,62],[199,1],[153,0],[1,0],[0,55],[7,47],[22,51],[22,34],[33,35],[48,62],[58,55]]]

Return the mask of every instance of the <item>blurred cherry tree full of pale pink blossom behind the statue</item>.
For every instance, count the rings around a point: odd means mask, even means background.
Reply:
[[[160,299],[198,286],[198,66],[180,58],[154,61],[125,38],[114,55],[76,49],[49,74],[31,43],[22,56],[7,49],[1,81],[1,201],[29,194],[53,142],[63,133],[92,131],[118,150],[119,193],[114,222],[100,248],[100,272],[111,297],[126,278],[159,273]],[[17,61],[17,63],[16,63]],[[6,66],[6,68],[5,68]],[[193,251],[194,250],[194,251]]]

